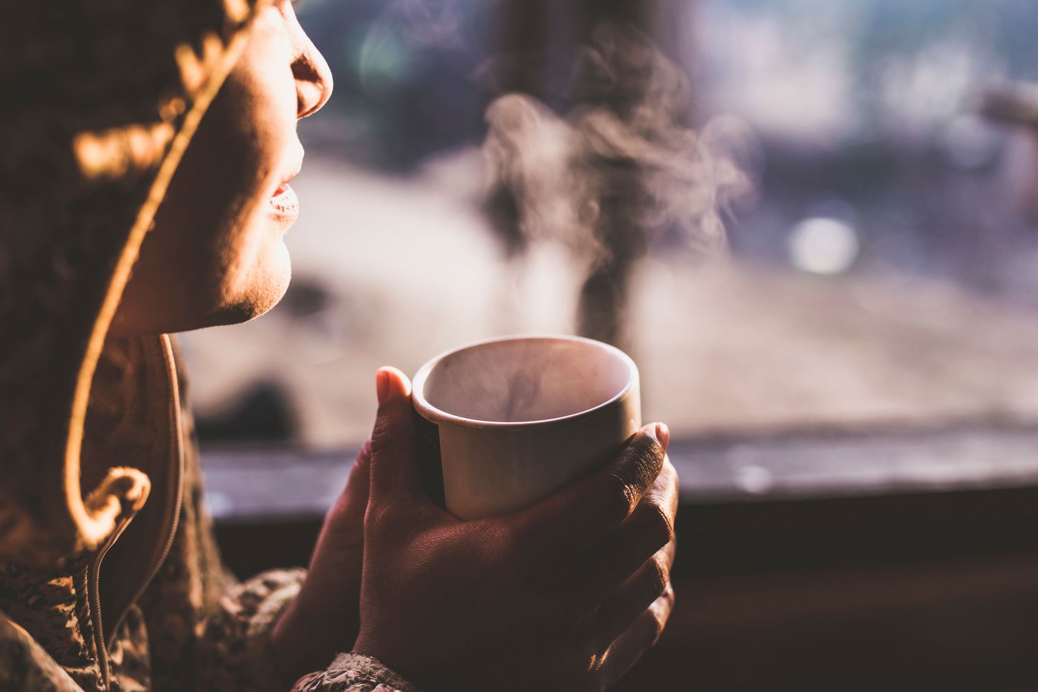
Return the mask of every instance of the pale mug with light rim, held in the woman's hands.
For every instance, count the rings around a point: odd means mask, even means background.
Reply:
[[[612,459],[641,425],[638,370],[577,336],[507,336],[443,353],[414,376],[447,511],[529,506]],[[431,424],[430,424],[431,423]]]

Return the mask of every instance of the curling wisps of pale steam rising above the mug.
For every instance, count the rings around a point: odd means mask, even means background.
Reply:
[[[487,109],[488,187],[514,200],[520,239],[512,242],[557,239],[606,261],[614,249],[600,238],[601,217],[612,214],[650,243],[677,232],[698,251],[722,248],[721,212],[754,191],[753,133],[730,117],[691,130],[687,78],[630,25],[596,27],[569,92],[565,115],[526,93]]]

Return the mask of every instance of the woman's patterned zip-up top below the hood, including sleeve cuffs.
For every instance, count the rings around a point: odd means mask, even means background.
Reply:
[[[0,690],[293,688],[267,647],[305,571],[238,583],[224,569],[185,390],[166,337],[106,347],[87,418],[84,485],[118,459],[147,473],[151,494],[107,552],[48,569],[0,563]],[[374,659],[344,654],[329,663],[293,689],[415,692]]]

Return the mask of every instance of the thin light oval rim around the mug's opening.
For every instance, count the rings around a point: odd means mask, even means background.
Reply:
[[[590,409],[583,409],[582,411],[576,411],[574,413],[566,414],[565,416],[558,416],[556,418],[543,418],[540,420],[480,420],[476,418],[465,418],[462,416],[455,415],[453,413],[447,413],[442,409],[438,409],[426,398],[426,381],[429,379],[429,375],[433,371],[440,361],[442,361],[447,356],[454,355],[461,351],[467,351],[468,349],[474,349],[476,347],[486,345],[488,343],[497,343],[500,341],[524,341],[524,340],[546,340],[546,341],[575,341],[579,343],[585,343],[589,345],[594,345],[598,349],[611,353],[617,356],[621,362],[627,365],[627,383],[617,392],[614,395],[610,396],[605,402],[591,407]],[[466,427],[522,427],[525,425],[538,425],[545,423],[553,423],[563,420],[569,420],[570,418],[576,418],[578,416],[583,416],[589,413],[604,409],[612,404],[616,404],[624,396],[629,394],[634,386],[638,382],[638,366],[634,363],[634,359],[628,356],[626,353],[612,345],[611,343],[606,343],[604,341],[598,341],[596,339],[590,339],[584,336],[574,336],[572,334],[509,334],[506,336],[495,336],[489,339],[480,339],[477,341],[471,341],[469,343],[464,343],[453,349],[448,349],[434,356],[430,360],[418,368],[415,373],[414,379],[411,381],[411,400],[414,405],[415,410],[422,418],[433,422],[450,422],[456,425],[463,425]]]

